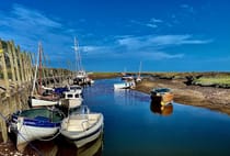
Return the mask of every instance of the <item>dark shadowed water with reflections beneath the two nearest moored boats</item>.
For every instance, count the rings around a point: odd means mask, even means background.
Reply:
[[[103,134],[93,142],[78,148],[73,142],[65,141],[61,136],[51,142],[32,142],[43,156],[101,156],[103,151]],[[28,146],[24,153],[34,154]]]

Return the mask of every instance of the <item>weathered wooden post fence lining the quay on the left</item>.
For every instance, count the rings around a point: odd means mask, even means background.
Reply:
[[[27,99],[32,90],[35,67],[32,55],[21,52],[13,41],[0,40],[0,113],[8,118],[16,110],[28,109]],[[57,83],[72,74],[66,69],[43,69],[43,83]],[[0,118],[3,142],[8,141],[5,119]]]

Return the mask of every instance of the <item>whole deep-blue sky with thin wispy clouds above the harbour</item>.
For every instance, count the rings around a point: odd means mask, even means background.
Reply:
[[[88,71],[229,71],[229,0],[0,0],[0,38],[51,67]]]

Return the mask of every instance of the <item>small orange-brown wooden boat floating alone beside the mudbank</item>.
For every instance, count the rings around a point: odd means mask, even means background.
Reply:
[[[153,88],[150,91],[152,101],[159,102],[161,105],[166,105],[173,102],[173,92],[170,88]]]

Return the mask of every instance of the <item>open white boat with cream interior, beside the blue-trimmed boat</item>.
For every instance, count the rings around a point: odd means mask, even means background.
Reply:
[[[90,112],[87,105],[82,105],[79,111],[64,119],[60,133],[77,147],[82,147],[99,138],[103,132],[103,125],[102,113]]]

